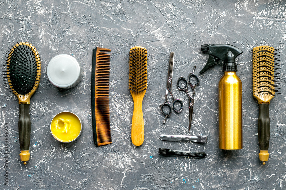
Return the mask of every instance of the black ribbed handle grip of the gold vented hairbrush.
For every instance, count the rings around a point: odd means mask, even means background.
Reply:
[[[270,138],[269,104],[258,104],[258,141],[260,150],[268,150]]]

